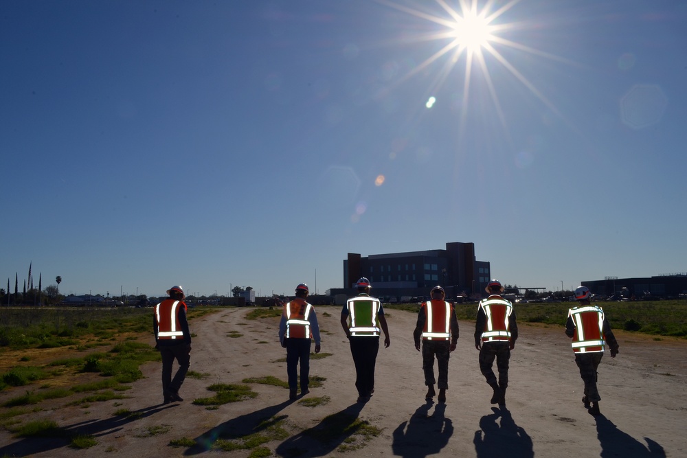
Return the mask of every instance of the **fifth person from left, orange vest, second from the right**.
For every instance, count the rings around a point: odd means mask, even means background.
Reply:
[[[484,289],[489,296],[477,307],[475,348],[480,350],[480,371],[494,390],[491,403],[506,407],[508,360],[517,341],[515,310],[513,304],[501,296],[504,292],[501,282],[491,280]],[[494,360],[499,370],[498,380],[492,369]]]

